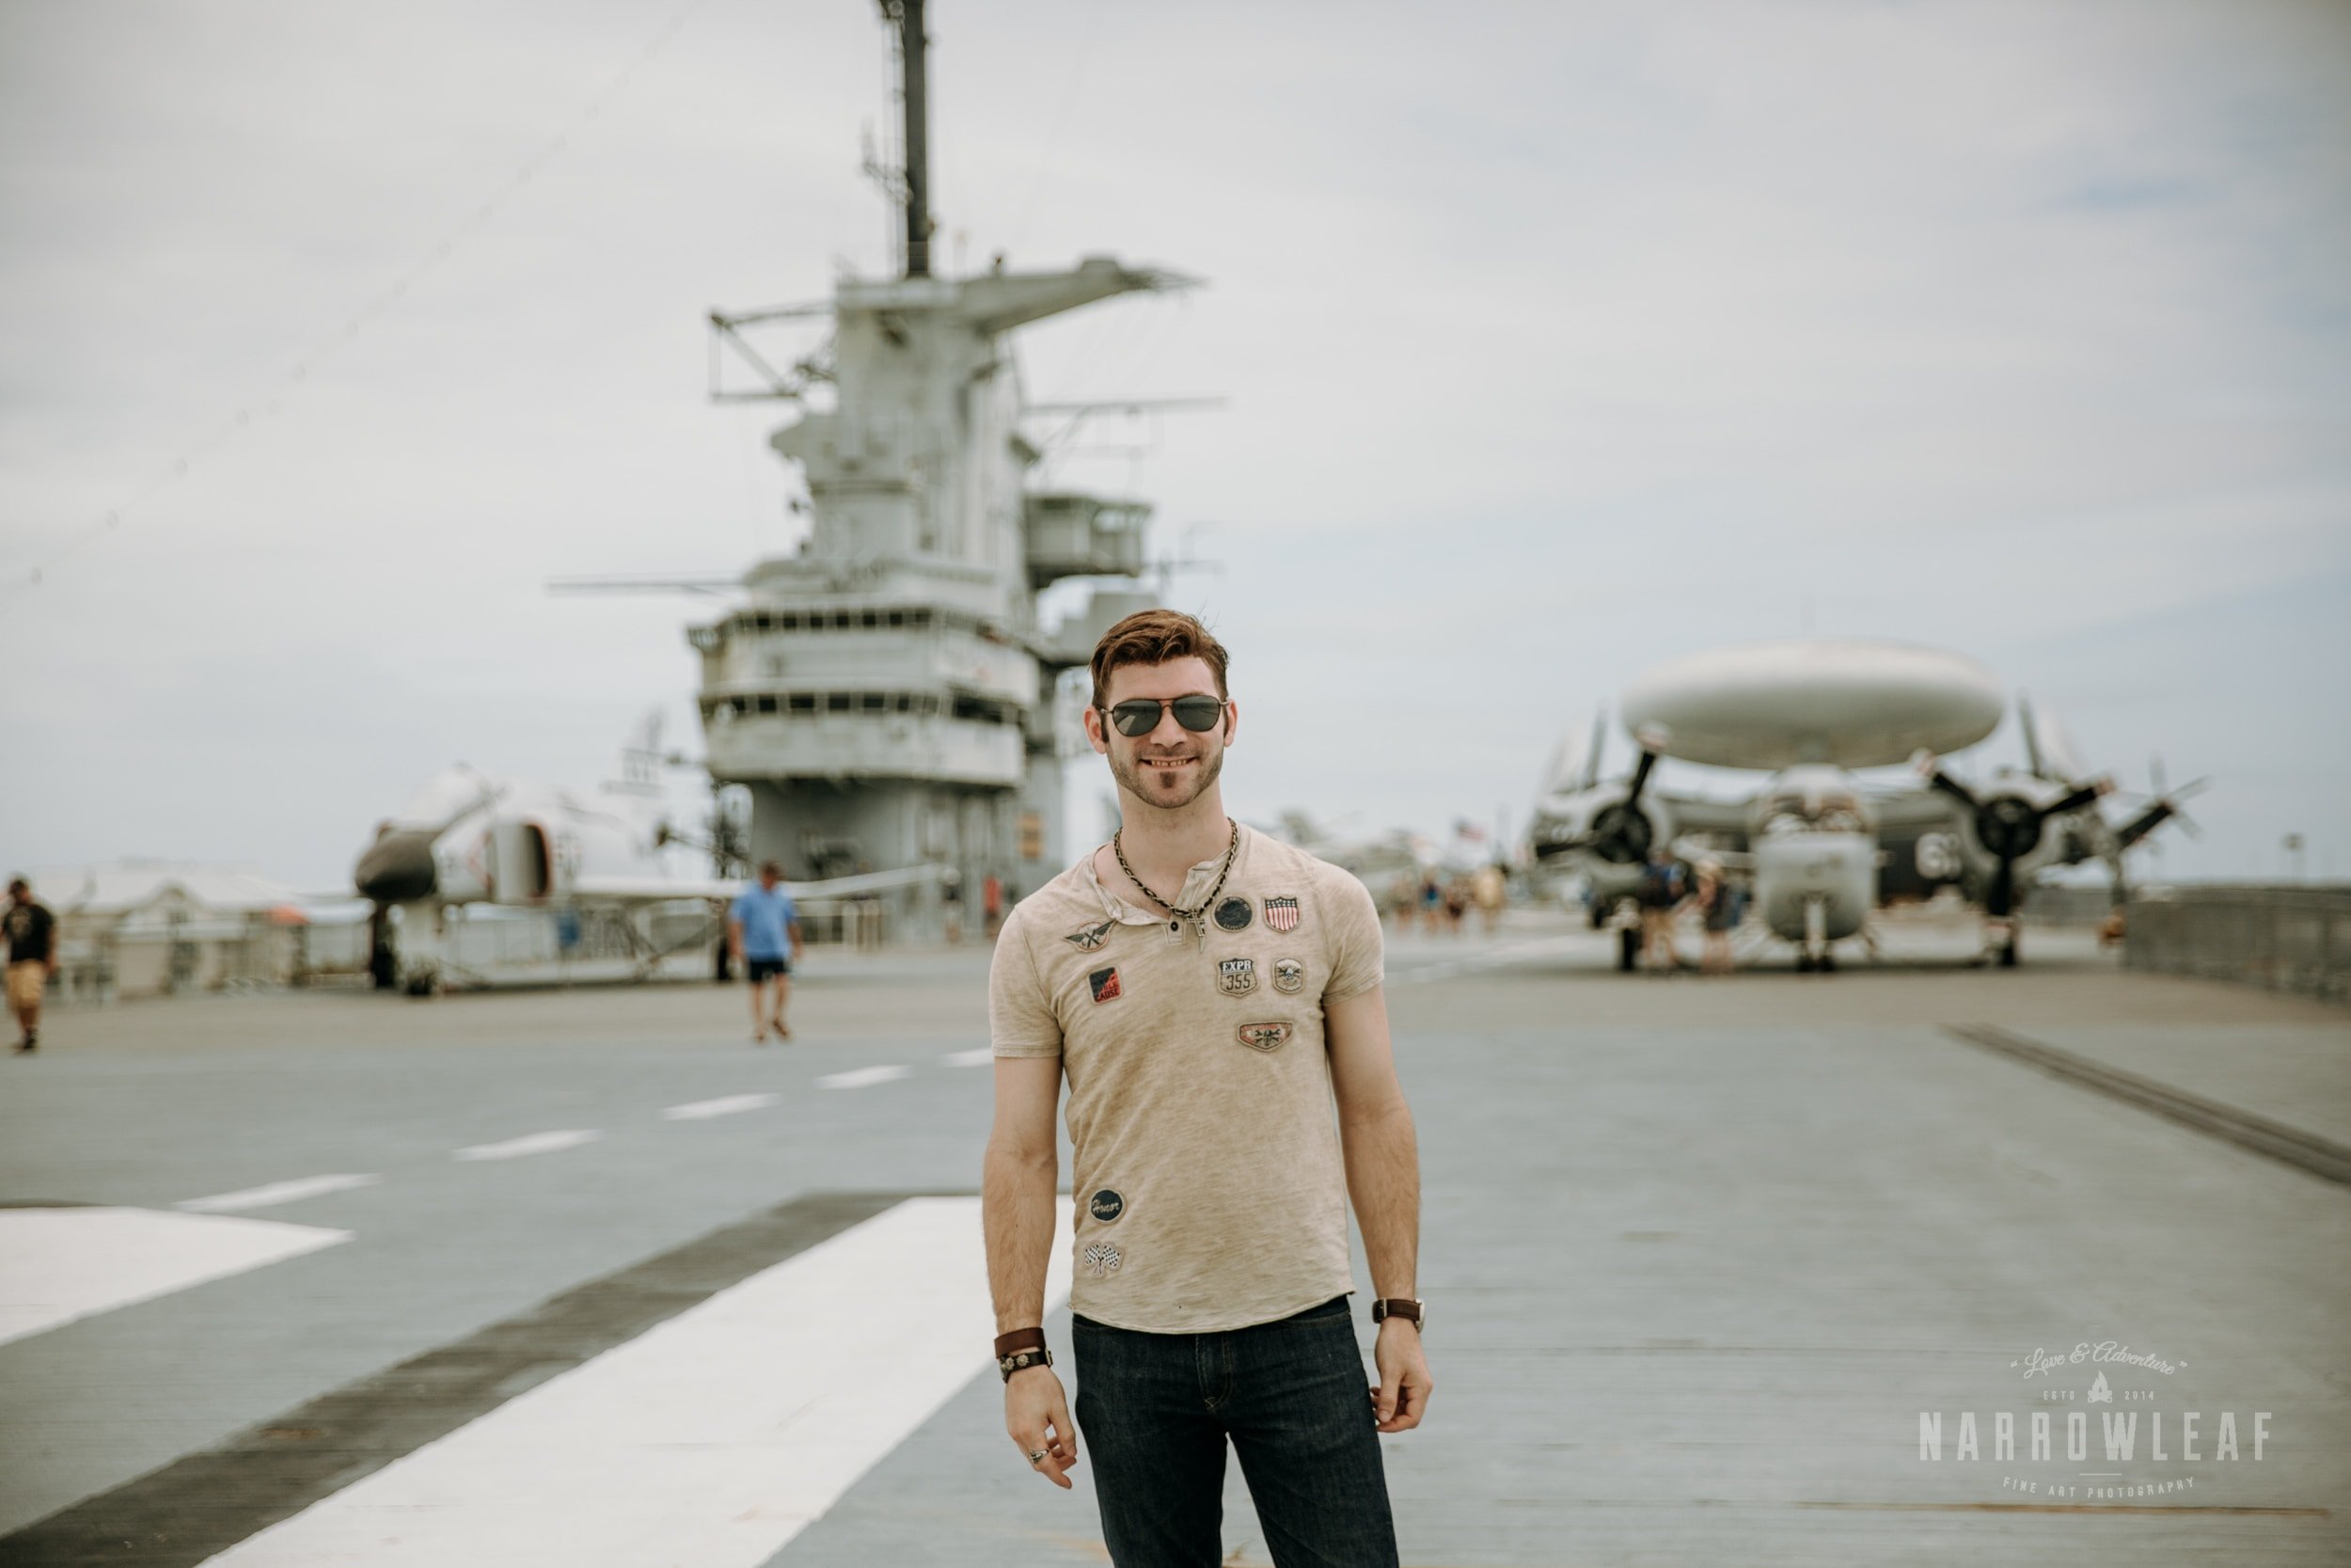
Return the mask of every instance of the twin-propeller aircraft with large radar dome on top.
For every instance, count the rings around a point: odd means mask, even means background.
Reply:
[[[2156,792],[2121,823],[2097,802],[2064,731],[2020,698],[2027,769],[1965,783],[1940,762],[1998,729],[2005,693],[1958,654],[1900,642],[1806,639],[1679,658],[1636,679],[1620,703],[1639,745],[1632,771],[1601,778],[1606,715],[1589,741],[1561,741],[1528,832],[1540,872],[1575,872],[1592,922],[1625,914],[1653,853],[1714,858],[1751,886],[1763,926],[1796,945],[1799,969],[1834,969],[1836,943],[1869,940],[1871,912],[1956,889],[1982,907],[1982,961],[2017,961],[2017,907],[2059,865],[2104,860],[2116,905],[2123,858],[2203,783]],[[1650,788],[1660,759],[1768,773],[1744,799]],[[1911,762],[1916,785],[1874,785],[1853,769]],[[2182,818],[2184,823],[2184,818]],[[1636,936],[1617,919],[1617,966]]]

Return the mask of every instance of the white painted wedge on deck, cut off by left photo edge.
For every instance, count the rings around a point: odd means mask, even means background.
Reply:
[[[0,1208],[0,1345],[336,1241],[350,1232],[155,1208]]]

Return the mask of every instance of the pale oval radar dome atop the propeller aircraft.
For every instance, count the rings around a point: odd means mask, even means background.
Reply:
[[[1958,752],[2001,724],[1991,670],[1909,642],[1759,642],[1657,665],[1625,689],[1625,726],[1719,769],[1876,769]]]

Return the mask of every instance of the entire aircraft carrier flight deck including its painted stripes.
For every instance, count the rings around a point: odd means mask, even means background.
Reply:
[[[2351,1016],[1972,936],[1389,938],[1406,1563],[2351,1556]],[[813,950],[781,1046],[710,983],[59,1011],[0,1063],[0,1563],[1107,1561],[987,1363],[985,964]]]

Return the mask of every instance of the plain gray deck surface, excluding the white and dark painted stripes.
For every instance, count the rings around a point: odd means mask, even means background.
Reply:
[[[1944,1032],[2351,1143],[2351,1013],[1965,940],[1650,978],[1556,917],[1392,938],[1439,1380],[1385,1439],[1406,1563],[2351,1561],[2351,1190]],[[976,1190],[990,1074],[943,1058],[985,1044],[983,978],[976,945],[816,954],[766,1051],[708,985],[59,1011],[0,1060],[0,1204],[383,1180],[259,1211],[346,1246],[0,1345],[0,1535],[790,1199]],[[912,1074],[813,1088],[877,1063]],[[781,1100],[654,1114],[745,1091]],[[449,1159],[536,1128],[604,1135]],[[2269,1410],[2266,1458],[2142,1462],[2196,1476],[2144,1502],[2003,1488],[2104,1469],[2062,1453],[1918,1460],[1921,1410],[2024,1410],[2010,1361],[2102,1338],[2182,1363],[2132,1373],[2154,1408]],[[976,1371],[776,1563],[1107,1561],[1084,1467],[1030,1476]],[[1237,1479],[1225,1535],[1270,1561]]]

